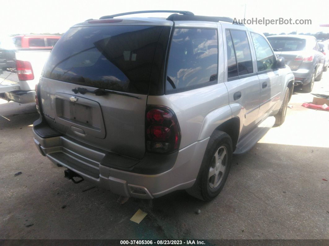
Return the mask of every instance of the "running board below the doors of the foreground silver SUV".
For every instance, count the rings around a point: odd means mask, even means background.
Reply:
[[[233,154],[244,154],[251,149],[275,123],[274,116],[267,117],[266,120],[257,124],[250,132],[245,134],[237,144]]]

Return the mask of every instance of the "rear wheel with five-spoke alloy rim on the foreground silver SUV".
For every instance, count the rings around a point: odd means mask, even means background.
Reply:
[[[208,142],[196,181],[186,191],[200,200],[214,199],[226,182],[231,168],[232,153],[230,136],[216,130]]]

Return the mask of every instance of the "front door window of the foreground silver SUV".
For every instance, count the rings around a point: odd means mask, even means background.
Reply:
[[[272,69],[275,57],[271,47],[261,35],[251,33],[251,37],[256,51],[258,72]]]

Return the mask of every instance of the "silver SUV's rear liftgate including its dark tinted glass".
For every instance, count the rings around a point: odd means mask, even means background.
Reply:
[[[163,28],[88,26],[66,32],[40,78],[48,123],[89,145],[142,158],[147,94]]]

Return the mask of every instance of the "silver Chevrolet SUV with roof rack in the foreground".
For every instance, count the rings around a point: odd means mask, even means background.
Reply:
[[[210,200],[232,154],[284,122],[294,77],[265,36],[227,17],[177,12],[103,16],[58,41],[33,132],[66,178],[127,197],[186,189]]]

